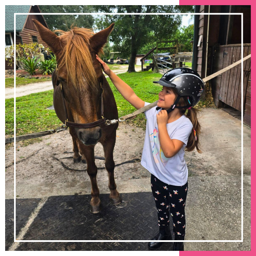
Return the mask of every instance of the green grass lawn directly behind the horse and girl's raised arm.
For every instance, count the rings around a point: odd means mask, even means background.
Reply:
[[[161,74],[148,71],[122,73],[118,76],[129,84],[143,101],[151,103],[158,99],[161,86],[154,84],[153,81],[159,80]],[[119,117],[136,111],[116,90],[109,78],[108,82],[116,100]],[[61,121],[57,118],[55,111],[47,109],[53,104],[52,95],[53,90],[49,90],[16,98],[16,136],[46,131],[61,125]],[[202,102],[200,107],[208,107],[208,105]],[[14,99],[5,100],[5,117],[5,135],[6,137],[12,137],[14,134]],[[145,115],[141,113],[137,118],[129,120],[128,123],[145,129]],[[29,141],[32,142],[32,140]]]

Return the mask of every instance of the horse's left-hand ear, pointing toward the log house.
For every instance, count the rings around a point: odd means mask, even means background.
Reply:
[[[38,20],[32,20],[35,23],[42,40],[50,47],[52,52],[57,55],[57,53],[61,50],[60,38],[51,30],[43,26]]]

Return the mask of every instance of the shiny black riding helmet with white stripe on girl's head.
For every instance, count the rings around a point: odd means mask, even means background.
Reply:
[[[153,81],[153,83],[173,87],[178,94],[175,103],[167,110],[167,113],[173,111],[174,108],[194,107],[204,91],[204,81],[197,72],[186,67],[177,67],[169,70],[159,81]],[[189,105],[176,106],[182,96],[188,96]],[[160,107],[157,107],[157,110],[159,109]]]

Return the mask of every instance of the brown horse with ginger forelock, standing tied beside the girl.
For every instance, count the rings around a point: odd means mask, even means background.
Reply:
[[[54,87],[53,103],[58,118],[65,122],[66,116],[68,116],[68,121],[77,124],[91,123],[102,119],[100,87],[102,84],[104,117],[109,120],[118,119],[112,90],[96,60],[96,54],[101,53],[108,35],[113,30],[114,23],[95,34],[90,29],[75,27],[68,32],[59,31],[61,35],[57,36],[37,20],[33,21],[42,40],[56,55],[58,69],[57,72],[54,70],[52,73],[52,84]],[[108,126],[103,123],[92,128],[69,127],[73,139],[73,161],[75,163],[81,160],[84,163],[87,162],[87,173],[92,184],[90,211],[93,213],[101,210],[96,180],[97,166],[94,158],[94,146],[98,142],[103,145],[105,153],[110,201],[113,205],[122,202],[114,180],[113,149],[116,143],[117,127],[118,123]]]

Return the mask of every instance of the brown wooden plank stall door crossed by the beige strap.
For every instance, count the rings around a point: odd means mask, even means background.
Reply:
[[[250,54],[250,44],[244,44],[243,55]],[[227,53],[224,55],[224,52]],[[241,44],[216,47],[212,73],[215,73],[241,59]],[[250,58],[243,63],[244,70],[250,69]],[[250,123],[250,73],[243,73],[244,122]],[[241,111],[241,64],[212,79],[212,96],[216,107],[221,102]],[[250,124],[249,124],[250,125]]]

